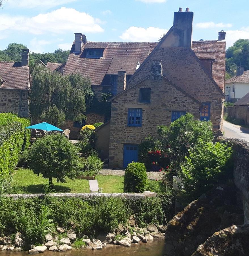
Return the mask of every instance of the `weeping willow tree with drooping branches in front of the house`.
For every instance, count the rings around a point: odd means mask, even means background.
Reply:
[[[32,118],[62,126],[65,120],[86,119],[86,100],[94,94],[91,81],[79,73],[62,76],[45,65],[37,65],[32,73],[30,114]]]

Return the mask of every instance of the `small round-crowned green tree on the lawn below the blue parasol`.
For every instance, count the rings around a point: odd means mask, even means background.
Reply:
[[[43,178],[66,182],[66,177],[74,179],[79,171],[77,147],[60,134],[47,135],[31,146],[28,162],[33,172]]]

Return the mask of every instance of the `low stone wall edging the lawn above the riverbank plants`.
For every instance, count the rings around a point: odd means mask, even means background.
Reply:
[[[138,199],[145,199],[146,197],[156,197],[157,193],[151,191],[145,191],[144,193],[51,193],[48,194],[52,197],[84,197],[84,198],[91,198],[91,197],[121,197],[130,200],[138,200]],[[39,197],[43,198],[45,194],[9,194],[4,195],[4,197],[12,197],[14,200],[19,198],[33,198]]]

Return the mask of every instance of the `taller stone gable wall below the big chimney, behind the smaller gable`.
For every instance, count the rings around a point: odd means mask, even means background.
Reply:
[[[163,75],[167,79],[174,81],[176,85],[184,88],[200,102],[211,103],[210,120],[214,130],[219,128],[222,130],[220,126],[222,125],[224,97],[190,49],[174,47],[157,49],[127,86],[130,87],[145,79],[150,74],[151,65],[155,60],[161,61]]]

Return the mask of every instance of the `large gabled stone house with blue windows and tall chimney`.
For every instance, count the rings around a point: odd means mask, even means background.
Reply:
[[[211,120],[214,130],[222,129],[225,32],[219,32],[218,40],[192,42],[192,27],[193,12],[175,12],[173,26],[125,90],[111,98],[111,120],[96,130],[96,148],[111,167],[137,161],[144,138],[186,112]],[[109,143],[99,143],[102,137]]]

